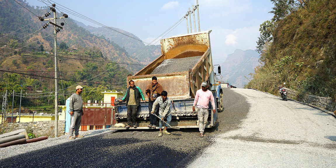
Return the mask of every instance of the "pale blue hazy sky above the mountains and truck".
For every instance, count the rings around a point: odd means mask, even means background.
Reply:
[[[53,1],[106,26],[133,33],[146,42],[151,42],[158,37],[183,17],[188,8],[193,4],[196,5],[196,0]],[[34,6],[46,6],[37,0],[27,0],[27,2]],[[199,0],[201,31],[212,30],[210,38],[213,57],[225,58],[235,49],[254,50],[259,36],[259,26],[272,17],[272,14],[268,13],[272,7],[269,0]],[[99,27],[77,16],[68,15],[85,25]],[[197,15],[195,18],[197,20]],[[194,32],[193,22],[192,26]],[[186,21],[183,19],[165,37],[186,33]]]

